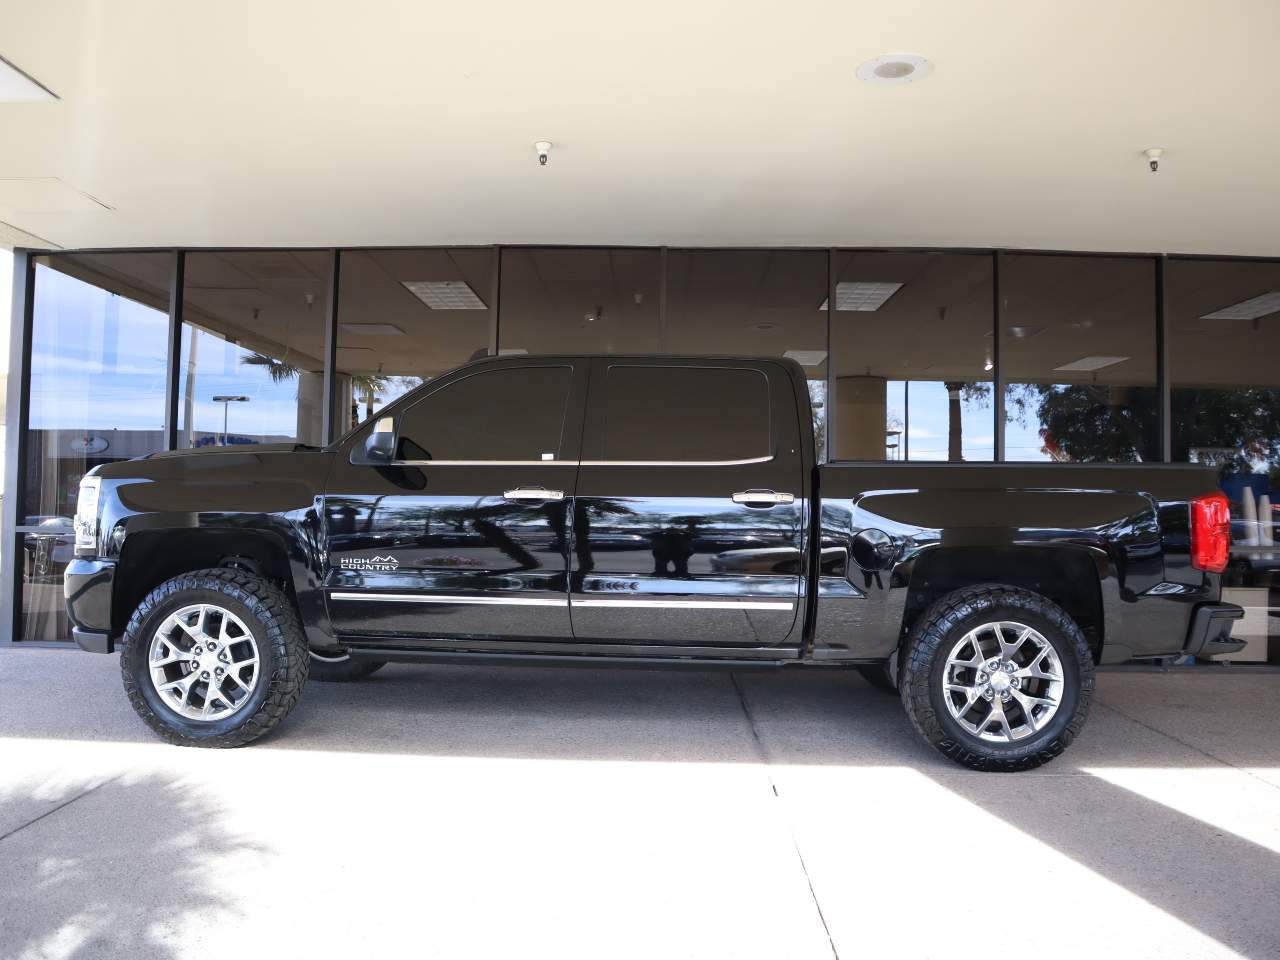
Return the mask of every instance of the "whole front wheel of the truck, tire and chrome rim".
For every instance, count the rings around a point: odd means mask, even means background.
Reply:
[[[239,570],[182,573],[138,604],[120,672],[133,709],[180,746],[241,746],[293,709],[307,644],[289,599]]]

